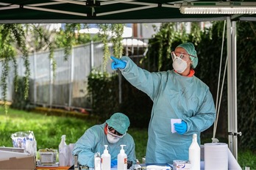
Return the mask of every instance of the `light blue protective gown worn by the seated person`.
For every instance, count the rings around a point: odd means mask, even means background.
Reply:
[[[73,149],[73,155],[78,155],[78,162],[82,166],[94,167],[94,154],[100,152],[102,155],[104,152],[104,145],[108,145],[107,149],[111,155],[111,160],[117,159],[120,152],[120,145],[125,144],[124,151],[127,154],[127,159],[132,161],[132,164],[136,163],[135,156],[135,142],[132,136],[127,133],[123,138],[115,144],[110,144],[107,141],[107,136],[104,133],[104,127],[106,123],[102,125],[94,125],[90,127],[85,133],[78,139]]]

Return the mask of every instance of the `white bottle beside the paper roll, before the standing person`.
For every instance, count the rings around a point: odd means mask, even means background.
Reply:
[[[189,147],[188,159],[191,162],[191,170],[200,170],[200,147],[197,143],[197,135],[193,134],[193,140]]]

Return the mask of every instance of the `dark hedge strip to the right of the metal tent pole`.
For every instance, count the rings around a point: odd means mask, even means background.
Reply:
[[[256,23],[239,22],[237,36],[238,137],[244,149],[256,150]]]

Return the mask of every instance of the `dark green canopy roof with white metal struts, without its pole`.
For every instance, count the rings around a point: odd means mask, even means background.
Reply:
[[[0,0],[0,23],[160,23],[226,19],[227,15],[183,15],[174,5],[182,1]],[[238,19],[255,20],[255,16],[241,15]]]

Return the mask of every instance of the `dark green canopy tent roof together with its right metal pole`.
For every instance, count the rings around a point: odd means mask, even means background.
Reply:
[[[0,23],[227,21],[229,147],[237,158],[239,133],[237,132],[235,21],[256,21],[256,15],[184,15],[175,6],[182,2],[183,0],[0,0]]]

